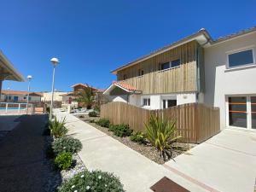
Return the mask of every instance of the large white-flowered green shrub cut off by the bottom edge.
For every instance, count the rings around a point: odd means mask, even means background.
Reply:
[[[124,192],[122,183],[113,173],[93,171],[80,172],[74,177],[62,183],[58,188],[59,192],[73,191],[111,191]]]

